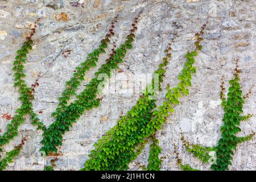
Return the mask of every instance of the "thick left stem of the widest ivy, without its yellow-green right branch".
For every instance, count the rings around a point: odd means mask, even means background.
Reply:
[[[168,49],[167,55],[171,57]],[[168,57],[163,58],[163,62],[154,72],[159,76],[159,83],[163,81],[166,73]],[[90,159],[86,161],[85,168],[82,170],[125,170],[128,168],[128,164],[143,148],[144,138],[147,135],[144,127],[152,117],[152,109],[156,107],[155,100],[150,99],[156,94],[154,82],[155,77],[152,78],[151,84],[147,85],[137,104],[94,144],[95,149],[89,155]],[[160,84],[158,86],[160,88]],[[140,143],[141,146],[139,146]]]

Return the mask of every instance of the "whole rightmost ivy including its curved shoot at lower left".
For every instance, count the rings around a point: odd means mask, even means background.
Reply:
[[[221,138],[218,140],[218,144],[215,147],[202,147],[199,144],[190,144],[184,138],[184,146],[187,151],[191,152],[193,155],[197,156],[203,162],[208,162],[209,152],[216,152],[216,162],[213,162],[211,169],[214,171],[224,171],[228,170],[228,167],[232,164],[232,156],[234,151],[237,149],[239,143],[253,139],[255,133],[251,133],[246,137],[237,137],[237,133],[241,131],[240,123],[241,121],[246,121],[251,117],[251,114],[242,115],[243,104],[245,99],[249,96],[242,96],[242,90],[240,86],[239,74],[241,70],[238,69],[238,60],[236,68],[234,69],[234,78],[229,80],[229,92],[228,98],[225,98],[225,82],[221,83],[220,97],[222,101],[222,107],[224,109],[224,117],[222,119],[223,125],[221,126]],[[250,90],[251,92],[251,90]]]

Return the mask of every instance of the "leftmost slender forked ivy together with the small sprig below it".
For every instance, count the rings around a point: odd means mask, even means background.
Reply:
[[[42,122],[40,122],[39,118],[37,117],[35,111],[32,108],[32,100],[34,100],[33,90],[32,88],[28,87],[24,77],[26,77],[24,73],[24,63],[26,63],[28,51],[32,49],[32,36],[35,34],[36,30],[36,23],[39,19],[35,22],[35,27],[32,28],[30,35],[27,36],[26,42],[23,43],[22,47],[16,52],[17,55],[14,61],[13,71],[14,73],[14,86],[19,88],[19,101],[22,102],[22,105],[15,111],[15,115],[11,122],[7,125],[7,130],[3,135],[0,136],[0,152],[2,152],[2,146],[9,143],[11,139],[18,135],[18,127],[24,123],[25,117],[27,115],[31,118],[32,125],[35,125],[40,130],[44,130],[45,126]],[[20,149],[22,148],[24,141],[26,139],[22,139],[22,144],[16,146],[14,150],[7,152],[6,157],[0,162],[0,170],[5,169],[8,166],[8,163],[13,161],[13,158],[19,154]],[[1,158],[1,155],[0,155]]]

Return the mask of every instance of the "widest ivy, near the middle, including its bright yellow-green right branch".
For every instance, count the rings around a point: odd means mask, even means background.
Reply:
[[[195,62],[194,57],[197,55],[197,50],[201,49],[200,42],[203,40],[201,35],[204,33],[205,25],[201,32],[196,34],[196,48],[193,52],[187,53],[185,66],[179,76],[179,84],[170,89],[167,87],[166,100],[158,109],[155,109],[155,101],[149,99],[154,96],[154,90],[146,89],[137,101],[137,104],[127,112],[122,119],[118,120],[118,124],[106,133],[106,136],[98,140],[94,144],[95,149],[89,155],[89,159],[85,162],[85,167],[82,170],[126,170],[128,164],[134,160],[141,152],[145,140],[155,134],[156,130],[161,129],[162,124],[166,121],[168,113],[173,113],[173,106],[179,104],[178,98],[181,93],[188,94],[187,86],[191,86],[192,73],[196,72],[193,67]],[[171,57],[166,50],[167,57]],[[162,82],[168,61],[167,57],[163,58],[163,63],[155,73],[159,74],[159,83]],[[152,79],[152,85],[154,84]],[[149,86],[151,88],[153,86]],[[160,87],[160,84],[159,84]],[[150,92],[149,92],[150,90]]]

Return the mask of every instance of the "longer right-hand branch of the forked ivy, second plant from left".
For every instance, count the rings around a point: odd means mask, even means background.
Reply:
[[[137,22],[137,20],[136,20]],[[133,34],[135,28],[135,23],[133,23],[133,29],[131,33],[127,35],[126,40],[121,46],[113,50],[110,54],[109,59],[106,63],[101,65],[100,69],[94,74],[94,78],[86,85],[86,88],[76,96],[77,100],[69,104],[68,106],[61,107],[63,110],[58,110],[54,114],[55,122],[53,122],[47,130],[43,133],[42,144],[43,147],[40,149],[42,152],[49,154],[50,152],[57,152],[57,146],[62,144],[63,134],[69,131],[72,127],[72,123],[84,113],[87,109],[92,109],[93,107],[98,107],[100,105],[100,99],[97,98],[98,85],[103,81],[106,81],[105,77],[98,78],[99,75],[111,76],[111,70],[117,69],[118,64],[123,62],[123,57],[127,52],[127,49],[131,49],[133,46],[133,41],[135,35]],[[66,98],[64,99],[66,100]],[[63,102],[64,104],[65,102]]]

